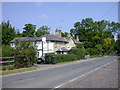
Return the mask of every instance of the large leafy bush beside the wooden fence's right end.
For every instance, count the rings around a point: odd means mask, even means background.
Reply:
[[[36,53],[35,45],[30,42],[16,40],[14,55],[19,58],[15,58],[15,68],[33,66],[37,62]]]

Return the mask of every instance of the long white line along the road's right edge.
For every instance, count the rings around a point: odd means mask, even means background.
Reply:
[[[115,61],[115,60],[113,60],[113,61]],[[92,73],[92,72],[94,72],[94,71],[97,71],[98,69],[107,66],[108,64],[112,63],[113,61],[111,61],[111,62],[109,62],[109,63],[106,63],[106,64],[104,64],[103,66],[100,66],[100,67],[98,67],[98,68],[96,68],[96,69],[93,69],[92,71],[87,72],[87,73],[85,73],[85,74],[83,74],[83,75],[81,75],[81,76],[79,76],[79,77],[76,77],[76,78],[74,78],[74,79],[72,79],[72,80],[70,80],[70,81],[68,81],[68,82],[65,82],[65,83],[63,83],[63,84],[60,84],[60,85],[58,85],[58,86],[56,86],[56,87],[54,87],[54,88],[59,88],[59,87],[65,85],[65,84],[70,83],[70,82],[72,82],[72,81],[75,81],[75,80],[77,80],[78,78],[81,78],[81,77],[83,77],[83,76],[85,76],[85,75],[87,75],[87,74],[89,74],[89,73]],[[53,88],[53,89],[54,89],[54,88]]]

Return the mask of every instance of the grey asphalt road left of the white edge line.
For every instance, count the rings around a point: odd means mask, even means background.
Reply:
[[[45,70],[3,76],[2,88],[55,88],[116,58],[116,56],[94,58]]]

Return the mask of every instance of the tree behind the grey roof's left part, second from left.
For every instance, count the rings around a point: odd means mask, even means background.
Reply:
[[[25,31],[23,31],[23,37],[34,37],[35,36],[35,29],[36,25],[33,24],[25,24],[25,27],[23,28]]]

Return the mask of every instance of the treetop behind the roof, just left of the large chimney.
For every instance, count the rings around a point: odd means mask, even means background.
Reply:
[[[42,26],[35,32],[35,35],[37,37],[41,37],[42,35],[45,35],[45,34],[50,34],[50,28],[47,26]]]

